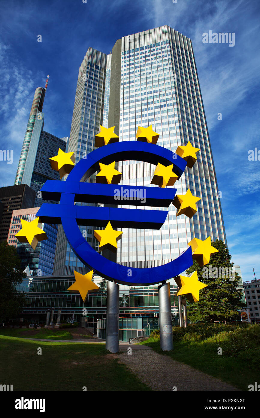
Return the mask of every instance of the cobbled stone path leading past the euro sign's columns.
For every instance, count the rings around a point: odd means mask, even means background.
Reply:
[[[133,345],[129,347],[132,348]],[[158,354],[151,349],[133,349],[132,354],[127,354],[126,349],[122,350],[121,347],[119,349],[121,351],[121,354],[119,354],[120,361],[152,390],[172,391],[173,387],[182,391],[239,390],[215,377],[199,372],[199,370],[187,364],[177,362],[171,357]]]

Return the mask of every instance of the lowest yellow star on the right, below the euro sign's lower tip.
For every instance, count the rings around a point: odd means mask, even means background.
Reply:
[[[185,295],[190,302],[197,302],[199,300],[200,289],[207,287],[207,285],[199,281],[196,270],[187,277],[177,276],[174,280],[178,285],[175,296]]]

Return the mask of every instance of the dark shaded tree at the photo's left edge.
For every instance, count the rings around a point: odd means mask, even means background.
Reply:
[[[15,286],[25,277],[15,247],[0,242],[0,319],[15,316],[23,306],[25,293],[15,292]]]

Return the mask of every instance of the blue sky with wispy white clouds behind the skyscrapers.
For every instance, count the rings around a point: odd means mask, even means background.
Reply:
[[[13,185],[36,87],[50,74],[44,130],[70,133],[78,69],[88,46],[108,54],[117,39],[169,25],[192,39],[207,117],[227,244],[243,280],[260,278],[258,0],[1,0],[0,185]],[[202,43],[205,32],[235,33],[235,46]],[[42,42],[37,42],[37,35]],[[222,120],[217,114],[222,113]]]

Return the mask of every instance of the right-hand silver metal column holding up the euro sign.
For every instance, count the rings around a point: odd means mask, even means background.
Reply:
[[[172,339],[172,310],[169,282],[162,282],[158,287],[159,293],[159,325],[160,345],[163,351],[173,349]]]

